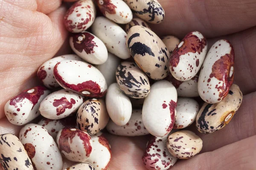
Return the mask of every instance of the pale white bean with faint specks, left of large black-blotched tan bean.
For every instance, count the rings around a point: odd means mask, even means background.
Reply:
[[[92,32],[105,43],[108,51],[112,54],[121,59],[128,59],[130,57],[125,45],[127,34],[113,21],[105,17],[97,17],[93,23]]]

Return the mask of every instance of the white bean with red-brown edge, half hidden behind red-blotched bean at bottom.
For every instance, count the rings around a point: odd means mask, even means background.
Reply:
[[[111,161],[111,146],[103,133],[92,135],[93,153],[87,162],[92,164],[96,170],[107,170]]]

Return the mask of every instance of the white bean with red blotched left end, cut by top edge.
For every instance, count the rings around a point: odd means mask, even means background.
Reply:
[[[108,19],[119,24],[126,24],[132,20],[132,12],[123,0],[96,0],[99,10]]]

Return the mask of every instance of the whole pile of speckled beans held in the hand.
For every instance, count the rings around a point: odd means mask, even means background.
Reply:
[[[105,17],[96,17],[96,6]],[[181,129],[193,125],[213,133],[241,105],[242,93],[233,84],[234,49],[218,40],[207,52],[198,31],[181,41],[160,39],[146,22],[163,19],[157,0],[73,3],[64,25],[75,54],[45,62],[37,73],[42,85],[5,105],[9,122],[23,127],[18,137],[0,135],[3,168],[62,170],[66,158],[77,164],[65,170],[106,170],[111,161],[106,131],[151,134],[142,156],[149,170],[167,170],[197,155],[202,140]],[[125,24],[125,31],[118,24]],[[205,102],[201,108],[198,96]],[[35,124],[40,115],[44,118]]]

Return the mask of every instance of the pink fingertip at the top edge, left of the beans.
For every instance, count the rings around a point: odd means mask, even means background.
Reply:
[[[49,14],[61,6],[61,0],[36,0],[37,11]]]

